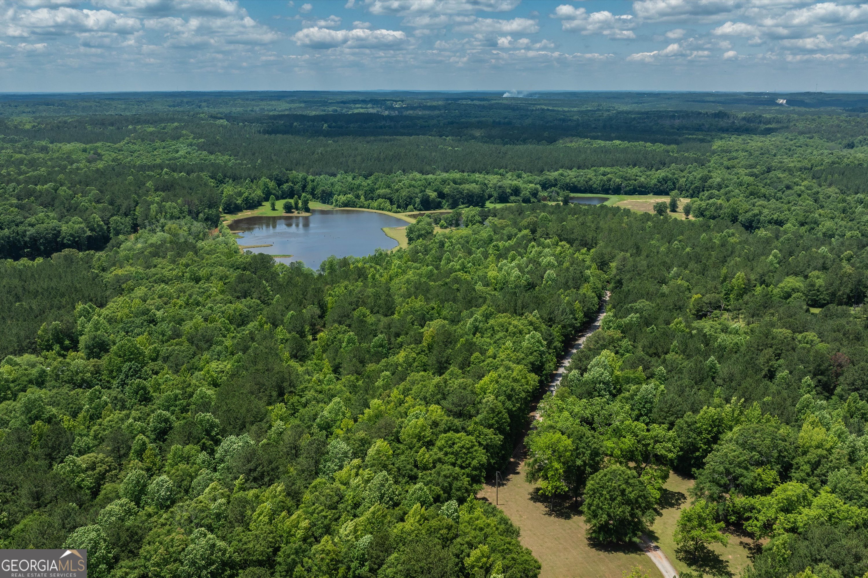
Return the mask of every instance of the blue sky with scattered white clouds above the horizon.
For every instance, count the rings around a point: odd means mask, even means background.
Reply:
[[[0,0],[0,92],[868,91],[868,3]]]

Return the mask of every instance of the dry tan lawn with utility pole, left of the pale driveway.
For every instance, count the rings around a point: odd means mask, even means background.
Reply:
[[[515,469],[516,464],[510,462]],[[556,503],[554,513],[548,501],[537,497],[536,486],[524,481],[523,460],[517,471],[507,476],[497,500],[503,512],[510,516],[522,534],[522,544],[530,549],[542,564],[540,578],[621,578],[625,571],[639,566],[652,578],[662,578],[654,562],[635,546],[622,549],[595,547],[585,537],[582,516]],[[495,503],[495,486],[486,484],[477,497]]]

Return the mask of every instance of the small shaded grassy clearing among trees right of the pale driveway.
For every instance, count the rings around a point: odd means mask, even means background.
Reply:
[[[690,504],[687,490],[694,485],[694,480],[672,474],[666,483],[667,494],[664,503],[667,508],[661,510],[661,516],[654,521],[651,538],[663,553],[666,554],[679,572],[685,570],[704,571],[706,574],[715,576],[740,575],[750,563],[750,548],[753,541],[744,536],[729,536],[729,544],[724,547],[713,544],[711,552],[700,562],[692,562],[689,565],[680,559],[675,553],[675,522],[678,521],[681,508]]]

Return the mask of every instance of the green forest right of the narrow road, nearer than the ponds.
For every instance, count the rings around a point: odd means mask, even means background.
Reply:
[[[612,488],[630,495],[630,484],[644,483],[628,504],[635,525],[595,529],[624,540],[647,528],[674,469],[696,477],[694,508],[711,506],[745,536],[772,537],[748,575],[823,564],[831,576],[863,575],[868,335],[851,304],[863,298],[865,243],[609,218],[621,231],[598,237],[591,257],[608,263],[608,313],[542,402],[528,439],[535,477],[551,493],[585,492],[597,507],[617,501]],[[556,236],[569,243],[566,229]],[[821,278],[830,292],[810,313],[811,280]]]

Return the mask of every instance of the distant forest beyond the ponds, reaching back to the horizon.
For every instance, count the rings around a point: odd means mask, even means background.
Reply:
[[[273,96],[252,99],[256,112],[246,114],[240,96],[202,98],[201,114],[181,98],[6,96],[0,256],[102,250],[184,215],[214,227],[221,208],[305,193],[387,211],[679,194],[695,199],[696,216],[751,231],[868,235],[868,126],[847,112],[855,108],[784,114],[441,96]],[[89,112],[64,114],[70,107]]]

